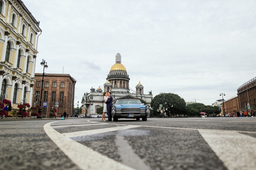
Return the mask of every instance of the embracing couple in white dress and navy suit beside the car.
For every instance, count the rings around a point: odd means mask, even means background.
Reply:
[[[103,96],[104,96],[103,97],[104,104],[103,104],[103,113],[102,113],[101,120],[104,122],[111,122],[112,121],[111,108],[112,108],[113,97],[111,96],[111,92],[109,93],[104,92]],[[108,120],[105,120],[105,113],[108,114]]]

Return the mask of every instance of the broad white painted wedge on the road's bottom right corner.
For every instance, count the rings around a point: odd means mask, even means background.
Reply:
[[[226,130],[198,131],[228,169],[255,169],[256,138]]]

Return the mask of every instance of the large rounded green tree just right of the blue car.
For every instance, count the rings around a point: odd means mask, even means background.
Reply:
[[[162,104],[162,107],[159,105]],[[154,112],[166,113],[167,116],[170,115],[182,115],[186,109],[186,102],[177,94],[173,93],[163,93],[156,95],[151,101],[151,108]]]

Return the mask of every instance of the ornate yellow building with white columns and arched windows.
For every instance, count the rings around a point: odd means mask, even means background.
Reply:
[[[20,102],[31,105],[41,32],[22,1],[0,0],[0,98],[11,100],[14,110]]]

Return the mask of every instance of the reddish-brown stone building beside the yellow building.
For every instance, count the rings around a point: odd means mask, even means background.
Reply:
[[[35,73],[35,85],[32,103],[40,102],[42,73]],[[74,91],[76,80],[69,74],[46,74],[42,92],[42,117],[49,116],[50,109],[57,109],[59,117],[66,111],[69,116],[73,115]],[[43,107],[47,102],[47,107]],[[56,102],[59,102],[58,105]]]

